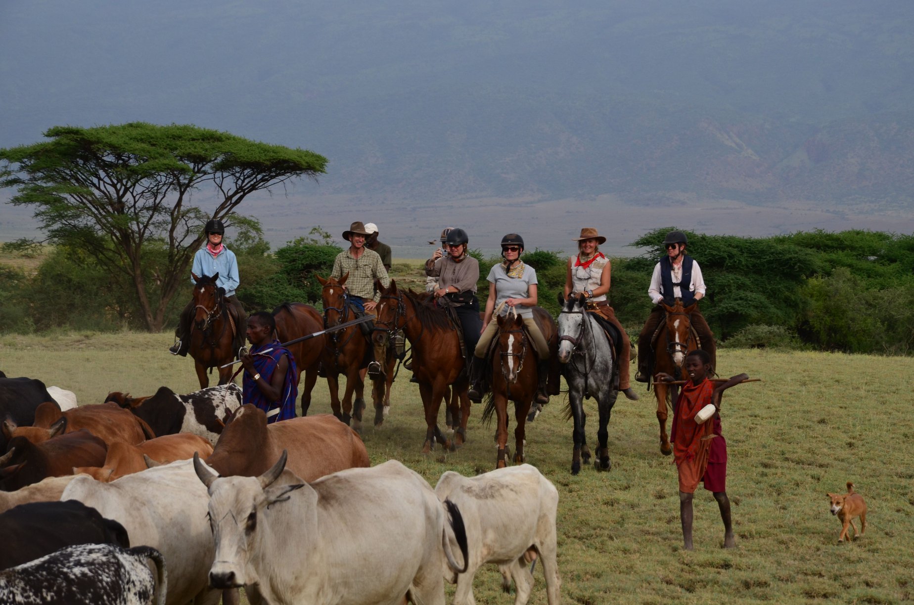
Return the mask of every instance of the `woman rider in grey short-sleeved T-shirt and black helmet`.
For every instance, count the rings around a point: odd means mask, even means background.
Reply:
[[[489,345],[492,344],[494,335],[498,332],[498,322],[492,321],[494,319],[493,311],[496,308],[501,309],[500,314],[502,315],[506,315],[508,309],[513,308],[523,318],[539,358],[537,366],[539,386],[536,402],[539,404],[549,402],[549,395],[546,391],[549,375],[549,345],[533,317],[533,307],[537,306],[537,270],[520,260],[520,255],[523,253],[524,239],[516,233],[507,234],[502,238],[502,258],[505,259],[505,262],[495,265],[486,277],[486,280],[489,281],[489,298],[485,303],[483,334],[473,351],[476,359],[473,361],[473,373],[470,377],[469,397],[476,403],[482,400],[486,390],[482,362],[488,355]]]

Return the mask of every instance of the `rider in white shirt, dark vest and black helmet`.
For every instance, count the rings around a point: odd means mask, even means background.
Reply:
[[[664,306],[673,306],[674,299],[682,299],[683,306],[687,307],[705,297],[705,279],[701,275],[701,268],[692,257],[685,254],[685,245],[688,238],[682,231],[670,231],[664,239],[666,256],[654,265],[654,275],[651,277],[651,287],[648,296],[654,303],[654,309],[648,315],[641,334],[638,336],[638,374],[634,377],[638,382],[647,382],[648,362],[651,357],[651,341],[657,327],[664,321]],[[684,287],[686,286],[686,287]],[[698,307],[689,316],[690,323],[698,334],[701,349],[707,351],[711,357],[711,370],[717,367],[717,347],[714,343],[714,334],[708,327],[705,317],[698,311]]]

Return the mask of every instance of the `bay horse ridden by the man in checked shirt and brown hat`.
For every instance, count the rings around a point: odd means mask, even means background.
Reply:
[[[347,272],[339,280],[316,275],[321,282],[321,301],[324,303],[324,328],[356,319],[356,312],[349,306],[349,297],[343,286],[349,279]],[[327,374],[327,386],[330,387],[330,408],[334,416],[346,424],[352,422],[352,428],[362,432],[362,411],[365,409],[365,383],[361,370],[372,360],[372,349],[368,339],[362,335],[359,325],[351,325],[345,330],[324,334],[324,348],[321,350],[321,363]],[[345,392],[342,405],[339,398],[339,375],[345,375]],[[356,400],[353,401],[353,393]]]

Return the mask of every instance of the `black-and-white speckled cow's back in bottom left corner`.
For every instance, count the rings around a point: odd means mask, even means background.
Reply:
[[[154,548],[83,544],[0,571],[0,603],[165,605],[166,582]]]

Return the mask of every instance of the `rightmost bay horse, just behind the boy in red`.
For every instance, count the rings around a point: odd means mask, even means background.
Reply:
[[[667,408],[679,394],[679,387],[676,385],[667,385],[664,382],[657,382],[653,377],[658,372],[665,372],[676,380],[685,378],[685,356],[690,351],[698,348],[698,341],[695,332],[692,330],[692,324],[689,320],[690,313],[695,311],[697,302],[683,307],[682,299],[677,298],[673,306],[661,301],[666,311],[664,322],[660,324],[657,334],[654,336],[654,355],[652,356],[652,366],[649,372],[654,383],[654,397],[657,399],[657,422],[660,424],[660,452],[664,456],[673,453],[673,446],[670,445],[669,437],[666,433]]]

